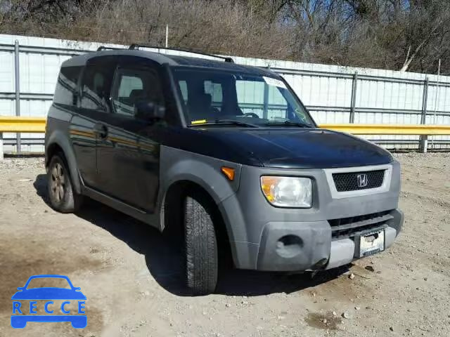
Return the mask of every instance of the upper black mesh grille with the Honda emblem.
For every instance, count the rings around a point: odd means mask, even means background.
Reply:
[[[367,190],[383,185],[385,171],[333,173],[333,180],[338,192]]]

